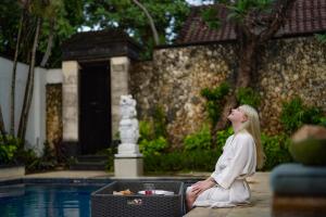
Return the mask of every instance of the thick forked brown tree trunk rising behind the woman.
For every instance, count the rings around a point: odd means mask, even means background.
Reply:
[[[238,60],[239,69],[236,76],[236,87],[230,98],[227,99],[221,117],[214,126],[212,142],[216,144],[216,132],[224,129],[227,124],[227,116],[230,108],[237,106],[236,94],[240,88],[247,88],[253,81],[252,78],[258,77],[258,63],[259,51],[264,49],[264,44],[277,33],[280,26],[287,18],[288,13],[291,11],[296,0],[277,0],[275,3],[274,12],[271,15],[271,23],[266,26],[265,30],[256,34],[247,21],[252,21],[252,17],[247,17],[243,23],[238,23],[235,26],[238,41]]]

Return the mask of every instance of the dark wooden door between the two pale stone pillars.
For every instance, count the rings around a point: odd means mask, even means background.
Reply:
[[[111,143],[109,63],[80,64],[79,142],[82,154],[95,154]]]

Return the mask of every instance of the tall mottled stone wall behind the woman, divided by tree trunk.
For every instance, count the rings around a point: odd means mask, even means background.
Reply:
[[[140,119],[151,117],[155,105],[163,106],[174,144],[206,120],[200,90],[233,80],[237,72],[233,43],[156,49],[153,61],[131,66],[130,90]],[[281,130],[281,104],[294,95],[326,112],[326,46],[313,37],[271,41],[259,71],[254,86],[263,99],[259,111],[264,131]]]

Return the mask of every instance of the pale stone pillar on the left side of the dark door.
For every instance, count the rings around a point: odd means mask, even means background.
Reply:
[[[78,71],[79,65],[76,61],[62,63],[62,139],[66,154],[70,156],[78,154]]]

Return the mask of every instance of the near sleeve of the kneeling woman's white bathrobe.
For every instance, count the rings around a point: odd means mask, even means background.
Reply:
[[[237,135],[231,143],[231,149],[234,157],[222,171],[214,174],[213,177],[224,189],[230,188],[235,179],[241,175],[251,174],[255,167],[255,145],[250,135]]]

